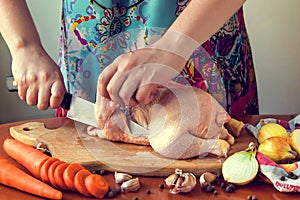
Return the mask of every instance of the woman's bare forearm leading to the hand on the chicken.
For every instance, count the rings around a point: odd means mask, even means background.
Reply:
[[[181,62],[185,62],[193,51],[217,32],[245,1],[191,0],[163,37],[151,47],[178,55],[178,58],[183,58]],[[184,65],[176,66],[176,70],[181,71]]]

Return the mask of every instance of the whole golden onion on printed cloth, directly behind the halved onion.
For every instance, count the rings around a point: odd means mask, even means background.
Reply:
[[[258,151],[275,162],[285,162],[296,158],[297,153],[291,149],[286,139],[271,137],[264,140]]]

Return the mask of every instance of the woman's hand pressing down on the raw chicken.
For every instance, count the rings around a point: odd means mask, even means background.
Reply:
[[[180,56],[151,47],[123,54],[100,74],[98,95],[120,106],[148,104],[184,64]]]

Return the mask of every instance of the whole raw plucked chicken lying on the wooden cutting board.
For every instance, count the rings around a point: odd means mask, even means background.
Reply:
[[[232,135],[238,136],[244,126],[231,118],[210,94],[190,86],[161,88],[151,103],[130,109],[131,119],[148,129],[143,135],[131,133],[124,112],[104,97],[102,101],[98,112],[102,113],[100,121],[106,123],[100,124],[102,130],[88,127],[90,135],[151,145],[155,152],[174,159],[207,154],[226,157],[234,143]]]

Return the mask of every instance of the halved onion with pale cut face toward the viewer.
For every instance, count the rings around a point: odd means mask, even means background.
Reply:
[[[258,162],[255,158],[254,143],[249,144],[245,151],[239,151],[229,156],[222,165],[224,180],[236,185],[250,183],[258,173]]]

